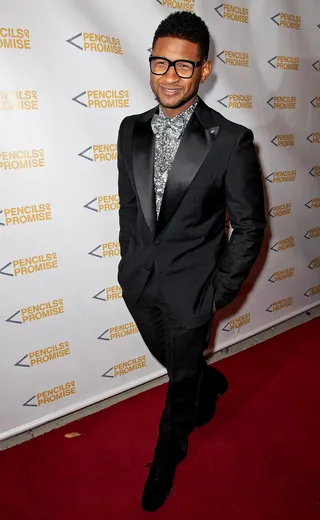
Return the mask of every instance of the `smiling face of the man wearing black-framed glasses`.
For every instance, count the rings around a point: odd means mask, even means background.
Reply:
[[[152,56],[161,56],[168,60],[199,61],[199,46],[196,43],[179,38],[158,38],[152,50]],[[192,100],[199,89],[200,83],[205,81],[210,73],[211,63],[195,68],[189,79],[180,78],[174,67],[162,76],[150,73],[150,86],[160,105],[168,109],[182,107]]]

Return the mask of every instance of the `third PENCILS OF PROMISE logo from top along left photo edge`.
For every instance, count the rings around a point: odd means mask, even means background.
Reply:
[[[42,148],[0,152],[0,171],[43,168],[44,166],[44,151]]]

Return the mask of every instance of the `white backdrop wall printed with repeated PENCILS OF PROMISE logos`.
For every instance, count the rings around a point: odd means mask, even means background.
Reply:
[[[0,438],[164,373],[117,283],[116,142],[155,105],[151,42],[176,10],[206,21],[201,94],[254,131],[266,188],[265,245],[215,350],[319,303],[320,4],[235,2],[2,3]]]

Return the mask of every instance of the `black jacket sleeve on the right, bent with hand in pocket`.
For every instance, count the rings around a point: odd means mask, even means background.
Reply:
[[[266,226],[261,171],[253,133],[243,129],[231,152],[225,196],[233,228],[213,281],[216,309],[232,302],[261,248]]]

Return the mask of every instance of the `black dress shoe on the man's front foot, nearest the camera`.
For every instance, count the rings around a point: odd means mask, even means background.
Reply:
[[[187,455],[188,441],[179,441],[176,449],[170,453],[159,454],[156,448],[155,458],[151,464],[149,475],[142,494],[141,507],[145,511],[159,509],[169,497],[177,464]]]

